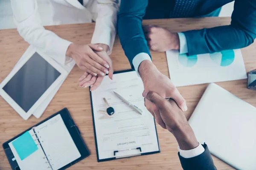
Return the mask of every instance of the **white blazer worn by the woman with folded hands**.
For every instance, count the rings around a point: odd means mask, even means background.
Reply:
[[[39,11],[49,11],[44,26],[96,21],[91,43],[106,44],[109,46],[108,54],[112,51],[119,0],[83,0],[84,5],[78,0],[11,0],[11,3],[14,22],[20,36],[61,65],[72,61],[66,56],[67,48],[72,42],[46,30],[41,24]],[[51,8],[40,8],[40,3],[50,3]]]

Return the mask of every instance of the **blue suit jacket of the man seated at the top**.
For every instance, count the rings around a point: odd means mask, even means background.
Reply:
[[[190,17],[207,16],[232,0],[196,1],[196,10]],[[144,15],[146,14],[147,19],[150,16],[172,17],[173,2],[174,0],[157,0],[157,3],[152,4],[154,0],[121,0],[118,34],[132,68],[132,60],[137,54],[147,53],[151,56],[142,30]],[[146,13],[147,7],[155,9],[153,15]],[[253,43],[256,38],[256,0],[235,0],[231,19],[227,26],[185,31],[188,55],[243,48]]]

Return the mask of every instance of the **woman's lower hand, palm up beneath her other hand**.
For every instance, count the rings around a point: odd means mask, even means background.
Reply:
[[[102,45],[103,46],[103,45]],[[113,64],[112,64],[112,60],[111,58],[108,56],[107,52],[106,52],[107,49],[104,48],[103,51],[95,51],[95,53],[101,57],[102,59],[104,59],[106,62],[108,62],[108,65],[109,65],[109,74],[108,74],[108,77],[110,79],[112,79],[113,77]],[[88,74],[87,72],[84,73],[84,75],[82,75],[80,78],[79,78],[79,85],[81,87],[89,87],[91,86],[90,90],[91,91],[94,91],[96,90],[96,88],[99,87],[99,85],[101,84],[102,80],[103,80],[104,77],[98,77],[98,76],[92,76],[90,74]]]

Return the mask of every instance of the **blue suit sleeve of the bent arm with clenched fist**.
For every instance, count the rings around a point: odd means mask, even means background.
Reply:
[[[185,31],[188,54],[244,48],[256,38],[256,0],[235,0],[229,26]]]

